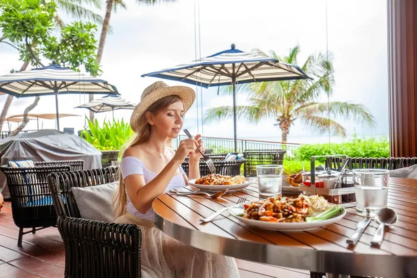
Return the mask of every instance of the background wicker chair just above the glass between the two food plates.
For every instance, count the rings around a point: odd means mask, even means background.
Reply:
[[[256,165],[282,165],[286,149],[247,149],[243,152],[245,177],[256,177]]]

